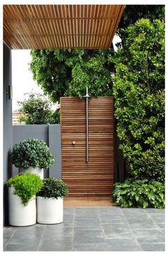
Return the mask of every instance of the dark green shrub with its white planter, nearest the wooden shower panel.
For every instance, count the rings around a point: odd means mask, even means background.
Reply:
[[[63,222],[63,196],[68,187],[61,179],[43,179],[43,187],[37,194],[37,222],[56,224]]]

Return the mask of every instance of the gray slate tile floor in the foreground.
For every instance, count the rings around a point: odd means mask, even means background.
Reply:
[[[65,208],[61,224],[4,227],[4,251],[164,251],[164,210]]]

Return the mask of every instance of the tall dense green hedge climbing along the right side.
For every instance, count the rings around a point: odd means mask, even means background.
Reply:
[[[115,117],[135,179],[164,182],[164,24],[141,19],[115,54]]]

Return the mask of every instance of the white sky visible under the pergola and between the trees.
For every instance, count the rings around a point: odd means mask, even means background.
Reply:
[[[120,41],[120,37],[115,36],[113,44]],[[116,49],[116,47],[115,47]],[[37,82],[33,80],[33,74],[29,70],[28,63],[31,62],[30,50],[12,50],[12,86],[13,86],[13,112],[19,109],[18,101],[25,99],[26,92],[43,92]]]

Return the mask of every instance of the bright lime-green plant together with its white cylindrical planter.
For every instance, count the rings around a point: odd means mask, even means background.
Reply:
[[[9,187],[9,224],[28,226],[36,223],[36,193],[43,186],[38,175],[27,172],[11,177]]]

